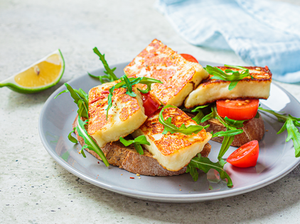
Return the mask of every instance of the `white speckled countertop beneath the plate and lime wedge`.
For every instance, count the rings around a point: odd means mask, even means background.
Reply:
[[[299,1],[289,1],[300,4]],[[154,1],[0,1],[0,80],[60,48],[65,74],[39,94],[0,89],[1,223],[299,223],[300,169],[262,189],[203,203],[155,203],[100,189],[60,167],[38,135],[38,116],[64,82],[132,60],[157,38],[199,60],[245,65],[234,52],[186,43]],[[300,100],[299,84],[282,84]]]

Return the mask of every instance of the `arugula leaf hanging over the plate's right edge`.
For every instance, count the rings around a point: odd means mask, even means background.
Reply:
[[[285,116],[283,114],[276,113],[275,111],[268,110],[262,107],[259,107],[258,109],[260,111],[271,113],[277,117],[279,122],[284,122],[284,125],[279,130],[277,135],[283,133],[284,130],[286,130],[287,131],[286,142],[289,142],[289,140],[293,140],[293,144],[295,148],[295,157],[300,157],[300,133],[298,128],[296,128],[296,127],[300,127],[300,123],[298,122],[300,121],[300,118],[295,118],[290,114],[288,116]]]

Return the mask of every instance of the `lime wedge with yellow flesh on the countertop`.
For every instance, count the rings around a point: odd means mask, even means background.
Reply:
[[[33,94],[58,84],[65,71],[65,61],[60,50],[43,57],[18,74],[0,82],[0,87],[9,87],[23,94]]]

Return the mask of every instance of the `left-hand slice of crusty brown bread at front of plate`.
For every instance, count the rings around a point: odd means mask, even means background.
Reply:
[[[77,126],[77,118],[78,116],[76,116],[75,118],[73,128]],[[85,141],[83,140],[83,138],[81,138],[76,131],[75,133],[78,142],[80,142],[80,145],[85,145]],[[202,152],[200,152],[201,155],[203,157],[208,157],[210,148],[211,145],[209,143],[206,143]],[[90,154],[95,156],[97,159],[100,159],[99,155],[97,155],[96,152],[88,149],[85,150],[87,150],[87,152],[90,152]],[[104,152],[105,157],[107,157],[109,164],[117,166],[121,169],[125,169],[134,174],[141,174],[146,176],[173,176],[186,172],[186,167],[183,167],[183,169],[176,172],[168,171],[167,169],[164,169],[164,167],[161,167],[159,162],[157,162],[157,160],[154,159],[151,153],[147,150],[144,150],[144,155],[139,155],[139,153],[137,153],[134,149],[133,145],[125,147],[119,141],[107,143],[105,147],[102,147],[102,151]]]

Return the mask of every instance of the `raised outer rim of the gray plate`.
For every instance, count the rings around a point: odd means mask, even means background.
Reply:
[[[119,65],[126,64],[127,62],[117,63],[112,65],[112,67],[118,67]],[[128,62],[129,63],[129,62]],[[200,61],[200,65],[221,65],[220,63],[215,62],[206,62],[206,61]],[[95,71],[101,71],[104,67],[100,67],[99,69],[95,69]],[[95,72],[94,71],[94,72]],[[87,74],[82,74],[78,77],[75,77],[74,79],[69,80],[67,83],[70,84],[72,82],[75,82],[75,80],[80,79],[83,76],[86,76]],[[272,82],[272,85],[275,85],[279,87],[284,93],[289,96],[289,98],[294,99],[297,103],[299,101],[292,96],[288,91],[282,88],[282,86],[279,86],[278,84]],[[132,189],[126,189],[121,186],[111,186],[110,184],[105,184],[103,181],[92,179],[92,177],[88,177],[85,173],[80,172],[79,170],[75,169],[74,167],[70,167],[68,163],[66,163],[63,159],[58,157],[53,153],[52,150],[48,147],[48,142],[43,138],[42,135],[42,121],[43,121],[43,115],[45,113],[46,107],[50,101],[53,100],[53,96],[56,96],[60,91],[62,91],[64,88],[64,85],[60,86],[58,89],[56,89],[53,94],[51,94],[48,99],[45,101],[43,108],[41,109],[39,118],[38,118],[38,133],[41,138],[41,142],[43,143],[43,146],[45,147],[45,150],[50,154],[53,159],[60,164],[64,169],[68,170],[68,172],[74,174],[76,177],[79,177],[80,179],[83,179],[90,184],[93,184],[95,186],[99,186],[102,189],[106,189],[109,191],[116,192],[118,194],[122,194],[125,196],[133,197],[133,198],[139,198],[144,200],[150,200],[150,201],[161,201],[161,202],[177,202],[177,203],[186,203],[186,202],[198,202],[198,201],[210,201],[220,198],[227,198],[230,196],[236,196],[240,194],[244,194],[250,191],[255,191],[257,189],[261,189],[264,186],[267,186],[269,184],[274,183],[274,181],[277,181],[279,179],[282,179],[286,174],[289,174],[293,169],[295,169],[299,163],[300,163],[300,157],[295,157],[295,162],[289,164],[289,166],[285,167],[285,169],[282,169],[281,172],[278,172],[277,174],[268,177],[267,179],[264,179],[263,181],[259,181],[255,184],[252,184],[251,186],[243,186],[239,189],[230,189],[230,191],[218,191],[218,192],[211,192],[211,193],[205,193],[205,194],[162,194],[162,193],[151,193],[151,192],[145,192],[145,191],[135,191]],[[299,103],[300,106],[300,103]]]

